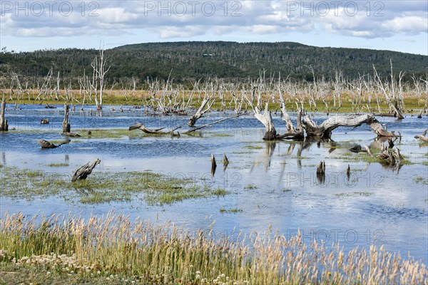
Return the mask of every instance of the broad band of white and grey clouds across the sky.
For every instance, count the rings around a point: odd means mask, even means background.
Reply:
[[[320,31],[385,38],[397,33],[426,34],[428,30],[425,1],[67,1],[72,10],[61,8],[61,1],[54,6],[48,2],[39,2],[44,4],[41,14],[40,7],[35,10],[28,1],[1,1],[1,33],[115,36],[146,29],[161,38],[189,39],[235,31],[253,35]]]

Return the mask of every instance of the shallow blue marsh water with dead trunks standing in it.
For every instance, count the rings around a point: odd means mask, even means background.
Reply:
[[[379,148],[381,143],[370,128],[338,128],[334,142],[264,142],[264,128],[253,115],[227,120],[195,132],[193,135],[146,135],[141,130],[127,133],[140,122],[148,128],[187,129],[188,116],[145,115],[142,109],[124,107],[125,111],[97,113],[71,111],[71,131],[80,138],[55,149],[41,149],[38,140],[61,141],[63,108],[45,109],[43,105],[8,105],[7,133],[0,133],[0,163],[4,167],[44,170],[45,175],[67,179],[73,172],[96,158],[101,160],[94,172],[158,172],[168,177],[191,179],[201,187],[224,188],[228,194],[199,199],[185,199],[173,204],[151,205],[142,199],[128,202],[87,204],[78,202],[79,192],[70,197],[0,196],[0,216],[6,212],[35,214],[107,214],[114,210],[131,218],[150,219],[153,223],[173,222],[188,232],[213,229],[218,234],[243,231],[278,231],[287,237],[302,231],[305,241],[339,242],[346,250],[356,246],[384,244],[391,252],[427,262],[428,244],[428,155],[414,135],[428,127],[428,117],[404,120],[379,118],[388,130],[402,134],[397,140],[406,158],[401,167],[368,162],[364,153],[348,149],[355,144]],[[92,109],[92,111],[91,111]],[[116,109],[119,108],[116,106]],[[197,125],[204,125],[233,115],[233,112],[206,114]],[[285,133],[280,113],[273,114],[279,133]],[[295,120],[295,113],[290,113]],[[313,114],[317,122],[323,114]],[[49,118],[49,125],[40,125]],[[89,129],[123,129],[115,138],[91,138]],[[83,131],[84,130],[84,131]],[[181,129],[180,129],[181,130]],[[180,132],[180,130],[178,130]],[[95,131],[94,131],[95,132]],[[129,134],[129,135],[128,135]],[[223,153],[230,161],[223,170]],[[218,167],[211,174],[210,155]],[[326,179],[319,182],[316,166],[325,160]],[[64,163],[63,167],[49,164]],[[350,177],[346,175],[350,165]],[[2,168],[0,168],[0,172]],[[3,176],[1,176],[3,179]],[[18,179],[18,178],[17,178]],[[88,177],[91,179],[91,176]]]

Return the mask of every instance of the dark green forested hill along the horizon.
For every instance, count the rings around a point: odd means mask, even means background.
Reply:
[[[345,78],[373,73],[372,65],[386,76],[392,59],[394,73],[405,71],[424,76],[428,73],[428,56],[395,51],[361,48],[320,48],[300,43],[235,43],[235,42],[170,42],[139,43],[106,50],[110,59],[107,80],[123,78],[173,78],[189,82],[199,78],[225,78],[230,81],[257,78],[260,70],[266,75],[278,72],[282,77],[312,80],[315,76],[332,78],[342,71]],[[14,71],[20,76],[46,76],[52,67],[63,79],[91,75],[91,61],[98,50],[60,49],[25,53],[0,53],[0,72],[4,78]]]

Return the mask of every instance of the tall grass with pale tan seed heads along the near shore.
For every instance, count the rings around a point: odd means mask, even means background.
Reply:
[[[426,284],[427,266],[383,247],[326,247],[302,236],[188,231],[123,214],[6,214],[0,282],[75,284]],[[15,279],[14,279],[15,280]],[[125,281],[126,280],[126,281]],[[93,281],[93,282],[92,282]]]

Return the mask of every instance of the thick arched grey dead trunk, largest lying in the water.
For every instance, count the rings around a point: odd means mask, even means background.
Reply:
[[[334,116],[328,118],[320,125],[312,120],[309,115],[306,115],[302,120],[303,128],[305,128],[308,137],[331,138],[332,130],[338,127],[358,127],[366,123],[374,130],[378,136],[397,137],[394,133],[384,130],[382,125],[374,118],[374,115],[348,115]]]

